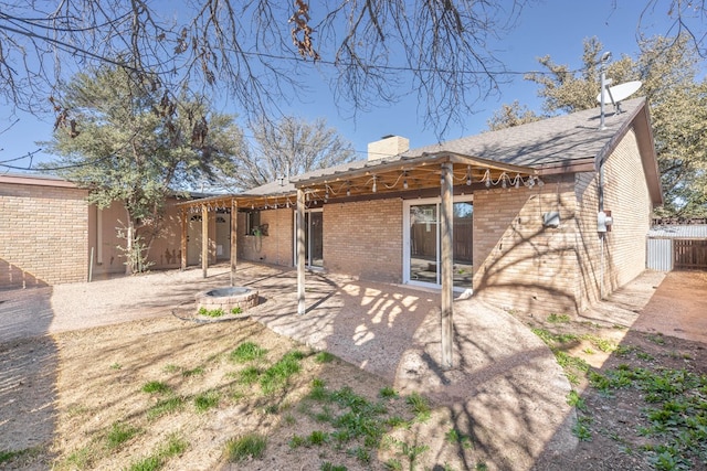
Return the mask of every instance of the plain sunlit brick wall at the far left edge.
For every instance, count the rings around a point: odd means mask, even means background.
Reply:
[[[0,183],[0,288],[86,280],[85,196],[65,185]]]

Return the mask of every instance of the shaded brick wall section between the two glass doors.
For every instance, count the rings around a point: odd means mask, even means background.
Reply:
[[[400,199],[324,205],[324,267],[384,282],[402,281]]]

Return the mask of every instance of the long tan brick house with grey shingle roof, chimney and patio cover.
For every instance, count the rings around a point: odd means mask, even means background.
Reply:
[[[412,150],[387,137],[368,160],[180,206],[238,211],[233,266],[298,265],[299,201],[310,269],[579,312],[645,269],[663,202],[645,99],[622,108],[602,129],[591,109]]]

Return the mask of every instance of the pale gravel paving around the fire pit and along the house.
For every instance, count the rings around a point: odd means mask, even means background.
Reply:
[[[48,333],[171,315],[193,318],[198,291],[226,286],[226,267],[165,271],[92,283],[0,292],[0,343]],[[646,272],[611,302],[582,317],[632,325],[663,274]],[[239,266],[238,283],[260,290],[249,311],[273,331],[327,350],[362,370],[420,390],[473,422],[488,452],[528,469],[540,452],[573,449],[570,385],[551,352],[516,318],[474,300],[455,302],[454,367],[441,370],[439,295],[367,283],[340,276],[307,276],[307,313],[296,314],[294,271]],[[650,327],[645,327],[650,329]],[[503,433],[499,433],[503,430]],[[435,439],[429,443],[434,448]],[[527,467],[518,465],[527,463]]]

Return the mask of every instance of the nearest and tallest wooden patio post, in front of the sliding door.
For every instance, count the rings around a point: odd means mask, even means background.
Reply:
[[[442,278],[442,367],[451,368],[454,356],[454,278],[453,278],[453,253],[452,253],[452,231],[454,226],[454,204],[453,204],[453,168],[452,163],[442,163],[441,193],[442,204],[440,205],[440,237],[442,245],[441,272]]]

